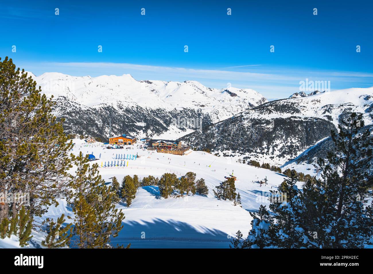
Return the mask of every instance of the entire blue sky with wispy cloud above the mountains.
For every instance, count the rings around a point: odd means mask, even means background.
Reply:
[[[66,2],[1,3],[0,57],[36,75],[231,83],[267,98],[288,97],[306,78],[332,90],[373,86],[370,1]]]

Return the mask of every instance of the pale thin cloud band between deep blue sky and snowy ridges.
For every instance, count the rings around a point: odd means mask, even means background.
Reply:
[[[241,66],[239,71],[225,69],[196,69],[105,62],[18,62],[20,67],[35,75],[60,72],[73,76],[131,74],[137,80],[178,81],[194,80],[210,88],[224,88],[231,83],[236,88],[251,88],[266,97],[288,97],[299,91],[299,82],[330,81],[332,89],[373,86],[372,73],[316,71],[279,67]],[[231,67],[234,68],[234,67]],[[245,71],[242,71],[245,70]],[[252,70],[252,71],[251,71]]]

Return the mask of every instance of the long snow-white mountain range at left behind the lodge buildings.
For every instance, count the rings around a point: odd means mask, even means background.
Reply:
[[[216,123],[267,102],[252,89],[213,89],[196,81],[137,81],[131,75],[75,77],[62,73],[31,73],[44,93],[56,100],[55,113],[66,119],[67,133],[145,135],[167,139],[194,131],[172,125],[172,119],[203,119]]]

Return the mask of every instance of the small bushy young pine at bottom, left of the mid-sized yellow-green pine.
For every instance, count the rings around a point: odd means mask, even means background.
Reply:
[[[41,241],[42,246],[46,248],[62,248],[68,245],[72,236],[72,224],[61,227],[65,221],[65,214],[62,214],[56,223],[53,220],[50,221],[48,235],[45,240]]]

